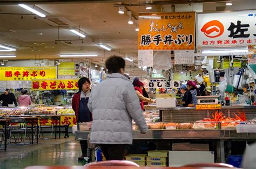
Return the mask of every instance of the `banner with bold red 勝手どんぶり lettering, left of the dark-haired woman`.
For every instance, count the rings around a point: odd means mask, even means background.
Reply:
[[[32,90],[75,90],[78,79],[32,80]]]

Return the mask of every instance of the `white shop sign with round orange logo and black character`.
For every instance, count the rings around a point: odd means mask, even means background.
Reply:
[[[198,46],[247,46],[256,44],[256,10],[201,13],[197,16]]]

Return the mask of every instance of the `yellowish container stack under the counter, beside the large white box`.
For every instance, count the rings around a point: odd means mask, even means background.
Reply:
[[[169,151],[148,151],[146,157],[147,166],[168,166]]]

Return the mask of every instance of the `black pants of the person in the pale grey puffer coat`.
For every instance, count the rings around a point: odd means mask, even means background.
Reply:
[[[123,160],[125,144],[100,144],[106,160]]]

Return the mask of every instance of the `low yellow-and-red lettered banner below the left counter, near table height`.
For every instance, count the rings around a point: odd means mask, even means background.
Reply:
[[[55,125],[56,121],[53,119],[41,119],[38,124],[41,123],[41,125]],[[60,116],[60,125],[69,125],[73,126],[76,124],[76,116],[75,115],[64,115]],[[59,121],[57,120],[57,126],[59,125]]]

